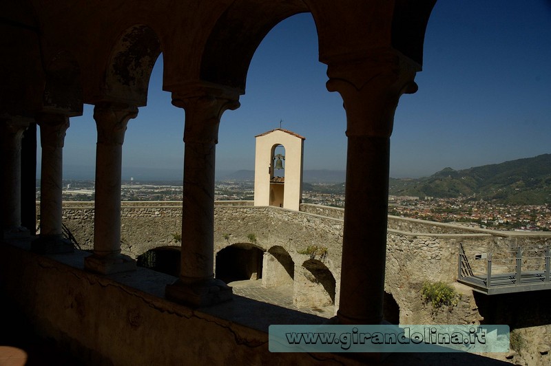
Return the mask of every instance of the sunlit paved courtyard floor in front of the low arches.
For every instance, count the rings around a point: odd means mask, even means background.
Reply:
[[[335,306],[323,306],[320,308],[298,308],[293,305],[293,285],[278,286],[273,288],[262,287],[262,280],[233,281],[228,283],[233,287],[233,293],[249,299],[271,303],[282,308],[298,310],[307,314],[314,314],[324,318],[331,318],[335,314]]]

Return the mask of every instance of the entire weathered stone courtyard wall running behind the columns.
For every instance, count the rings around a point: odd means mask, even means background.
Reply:
[[[312,301],[326,303],[331,299],[338,306],[343,231],[343,220],[339,217],[342,217],[343,210],[302,204],[301,209],[307,212],[297,212],[250,204],[217,202],[215,252],[229,246],[258,248],[264,252],[262,281],[266,286],[287,283],[292,272],[296,305],[306,307],[311,306]],[[64,205],[63,222],[86,249],[92,248],[93,217],[91,202],[66,202]],[[180,233],[181,219],[180,202],[123,202],[123,252],[137,257],[159,246],[179,245],[173,234]],[[399,322],[402,324],[477,324],[487,322],[488,314],[498,316],[492,310],[495,305],[487,305],[489,297],[475,296],[470,288],[456,282],[460,246],[470,258],[472,268],[484,271],[486,261],[475,261],[476,254],[494,252],[499,257],[499,253],[514,250],[517,246],[545,248],[551,245],[550,233],[497,232],[400,217],[388,218],[387,237],[385,291],[399,306]],[[325,254],[308,252],[308,248],[313,246],[324,248]],[[285,256],[292,261],[291,264],[284,263],[282,258]],[[325,269],[325,272],[315,277],[318,269]],[[335,280],[334,294],[327,291],[331,288],[331,278],[327,273]],[[452,284],[461,294],[461,301],[453,311],[435,312],[422,300],[420,290],[424,281]],[[484,310],[479,309],[481,304],[486,304],[482,305]],[[503,314],[508,314],[508,311],[501,308],[499,314],[502,314],[499,319],[503,319],[506,318]],[[545,342],[548,342],[547,338],[538,338],[537,334],[551,334],[551,327],[545,323],[532,326],[534,321],[530,316],[515,318],[511,324],[532,340],[530,352],[537,364],[545,355],[537,354],[535,350],[545,349]],[[520,362],[521,356],[514,357]]]

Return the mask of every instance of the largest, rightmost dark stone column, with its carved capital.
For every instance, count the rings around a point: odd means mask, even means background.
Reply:
[[[329,91],[346,109],[346,196],[340,302],[342,324],[383,320],[390,136],[399,96],[417,90],[415,69],[392,51],[329,64]]]

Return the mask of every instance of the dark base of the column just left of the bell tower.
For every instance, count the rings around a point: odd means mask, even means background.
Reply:
[[[191,305],[196,308],[222,303],[233,299],[233,290],[220,279],[209,279],[196,283],[184,283],[180,279],[167,285],[167,299]]]

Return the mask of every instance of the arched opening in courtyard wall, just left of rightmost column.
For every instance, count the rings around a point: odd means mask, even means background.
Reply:
[[[335,304],[336,281],[331,270],[318,259],[302,263],[295,271],[293,303],[299,308],[318,308]]]

